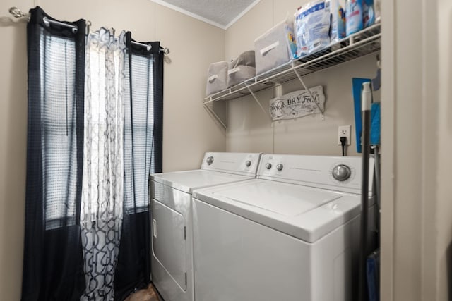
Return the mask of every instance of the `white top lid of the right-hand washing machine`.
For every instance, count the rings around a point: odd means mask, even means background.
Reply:
[[[359,195],[255,179],[196,190],[194,198],[316,242],[359,214]]]

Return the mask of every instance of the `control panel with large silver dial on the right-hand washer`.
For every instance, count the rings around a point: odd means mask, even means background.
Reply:
[[[317,188],[360,193],[361,157],[263,154],[258,178],[279,180]],[[372,191],[374,159],[369,162],[369,193]]]

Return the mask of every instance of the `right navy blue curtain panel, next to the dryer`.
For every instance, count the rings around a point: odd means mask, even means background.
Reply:
[[[129,99],[124,108],[124,216],[115,271],[115,299],[150,283],[149,175],[162,171],[163,54],[151,48],[129,49]]]

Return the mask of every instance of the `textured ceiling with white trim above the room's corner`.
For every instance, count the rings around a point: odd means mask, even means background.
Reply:
[[[223,29],[260,0],[151,0]]]

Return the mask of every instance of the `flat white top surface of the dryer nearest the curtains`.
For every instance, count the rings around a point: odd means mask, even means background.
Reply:
[[[196,169],[194,171],[174,171],[171,173],[155,173],[150,175],[150,180],[170,186],[183,192],[191,193],[194,189],[213,185],[249,180],[253,176],[235,175],[219,171],[206,171]]]

